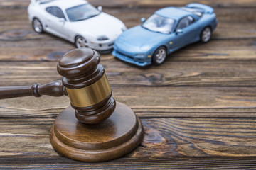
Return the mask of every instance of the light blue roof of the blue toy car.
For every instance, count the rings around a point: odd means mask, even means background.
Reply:
[[[188,11],[183,10],[182,8],[176,8],[176,7],[161,8],[158,11],[156,11],[155,13],[158,14],[159,16],[173,18],[175,20],[178,20],[179,18],[183,18],[183,16],[192,14]]]

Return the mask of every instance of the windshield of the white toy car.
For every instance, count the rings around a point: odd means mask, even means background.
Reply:
[[[81,21],[97,16],[100,14],[100,11],[97,10],[91,4],[82,4],[80,6],[74,6],[65,10],[70,22]]]

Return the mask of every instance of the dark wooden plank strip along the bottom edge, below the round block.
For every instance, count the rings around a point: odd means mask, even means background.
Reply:
[[[174,159],[116,159],[110,162],[75,162],[63,157],[18,159],[15,164],[11,158],[0,159],[5,169],[255,169],[255,159],[240,158],[174,158]]]

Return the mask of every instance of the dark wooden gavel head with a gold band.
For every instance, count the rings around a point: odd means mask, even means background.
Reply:
[[[63,76],[63,85],[78,120],[95,124],[110,117],[116,102],[98,52],[90,48],[72,50],[60,59],[57,70]]]

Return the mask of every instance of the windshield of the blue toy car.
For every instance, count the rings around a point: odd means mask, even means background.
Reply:
[[[154,13],[142,24],[142,27],[154,32],[166,34],[171,33],[171,30],[174,28],[174,23],[174,19],[159,16]]]

